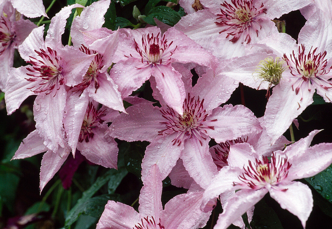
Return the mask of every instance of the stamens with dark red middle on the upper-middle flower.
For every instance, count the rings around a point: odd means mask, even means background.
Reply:
[[[170,48],[172,47],[173,41],[168,44],[167,39],[165,39],[165,35],[162,36],[160,33],[156,36],[153,33],[151,33],[151,35],[143,34],[142,45],[138,45],[135,39],[134,42],[135,49],[141,56],[141,62],[146,63],[147,65],[152,64],[154,66],[157,64],[169,64],[171,56],[177,48],[177,46],[174,49]]]

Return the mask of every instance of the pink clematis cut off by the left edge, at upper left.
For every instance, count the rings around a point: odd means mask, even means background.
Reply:
[[[5,92],[7,75],[13,67],[14,51],[37,26],[13,8],[9,1],[0,3],[0,90]]]

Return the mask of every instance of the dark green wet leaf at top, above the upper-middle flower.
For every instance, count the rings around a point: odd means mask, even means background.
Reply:
[[[150,25],[156,26],[153,18],[157,18],[159,21],[174,26],[181,19],[181,16],[175,10],[167,6],[157,6],[152,8],[149,12],[149,15],[144,18],[144,21]]]

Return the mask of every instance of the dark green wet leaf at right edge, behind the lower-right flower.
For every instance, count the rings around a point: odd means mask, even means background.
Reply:
[[[315,176],[305,178],[305,180],[326,200],[332,203],[332,165]]]

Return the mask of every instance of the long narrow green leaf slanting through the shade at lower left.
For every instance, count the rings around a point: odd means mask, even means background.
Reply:
[[[121,170],[121,172],[123,172]],[[122,179],[123,176],[118,175],[119,171],[116,169],[108,170],[104,175],[97,178],[96,182],[86,191],[83,192],[82,198],[80,198],[76,205],[68,212],[65,220],[65,227],[68,228],[72,225],[78,217],[87,210],[87,202],[90,201],[91,197],[109,180]],[[116,187],[113,187],[115,189]],[[105,206],[105,204],[104,204]]]

